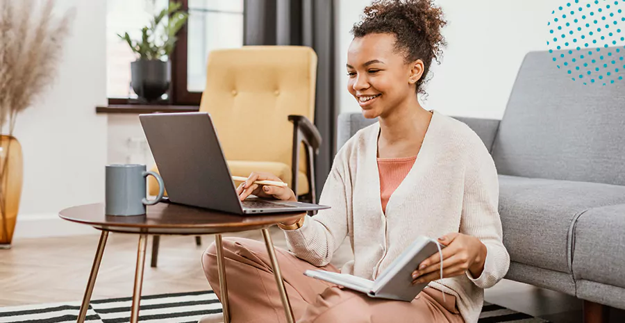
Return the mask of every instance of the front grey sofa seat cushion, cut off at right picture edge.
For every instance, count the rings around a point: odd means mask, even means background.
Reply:
[[[625,288],[625,204],[591,208],[574,228],[575,280]]]

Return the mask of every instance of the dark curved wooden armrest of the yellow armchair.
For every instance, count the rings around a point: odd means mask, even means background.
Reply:
[[[297,196],[297,179],[299,174],[299,150],[301,143],[306,146],[306,177],[308,178],[308,201],[315,203],[315,155],[319,154],[322,136],[317,127],[303,115],[289,115],[293,123],[293,150],[291,158],[291,189]]]

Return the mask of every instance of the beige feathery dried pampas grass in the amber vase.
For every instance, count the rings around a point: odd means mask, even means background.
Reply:
[[[38,1],[41,2],[41,1]],[[74,15],[53,14],[54,0],[0,0],[0,133],[46,90],[56,75]]]

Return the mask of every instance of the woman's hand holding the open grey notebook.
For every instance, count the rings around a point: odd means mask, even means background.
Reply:
[[[442,249],[443,278],[460,276],[467,270],[475,278],[482,274],[486,246],[478,238],[454,232],[438,238],[438,242],[446,246]],[[419,264],[412,279],[413,284],[440,279],[440,254],[437,252]]]

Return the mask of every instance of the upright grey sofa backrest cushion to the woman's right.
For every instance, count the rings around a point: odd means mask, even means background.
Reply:
[[[599,55],[608,57],[615,50],[601,48],[587,58],[597,56],[603,65]],[[497,170],[625,185],[625,82],[600,86],[572,81],[566,70],[555,67],[552,58],[559,59],[560,53],[531,52],[523,60],[492,147]],[[625,71],[614,73],[619,75]]]

